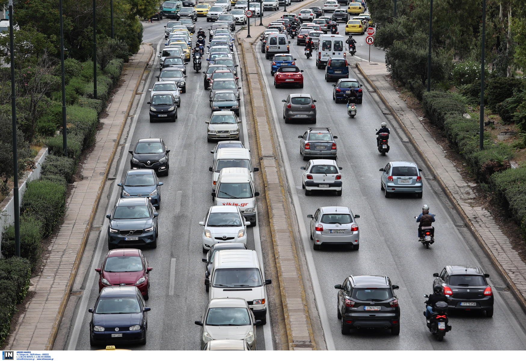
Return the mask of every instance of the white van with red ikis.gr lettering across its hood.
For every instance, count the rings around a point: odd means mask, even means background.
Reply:
[[[256,225],[254,181],[247,168],[223,168],[219,172],[217,188],[212,192],[216,205],[236,205],[250,225]]]

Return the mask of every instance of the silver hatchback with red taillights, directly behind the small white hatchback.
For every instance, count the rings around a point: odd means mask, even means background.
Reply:
[[[350,245],[353,250],[360,248],[360,231],[356,219],[349,207],[320,207],[310,218],[310,239],[314,250],[322,244]]]

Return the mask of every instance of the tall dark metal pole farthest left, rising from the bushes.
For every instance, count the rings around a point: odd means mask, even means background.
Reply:
[[[11,53],[11,119],[13,120],[13,201],[15,209],[15,256],[20,256],[20,200],[18,198],[18,154],[16,142],[15,39],[13,0],[9,0],[9,53]]]

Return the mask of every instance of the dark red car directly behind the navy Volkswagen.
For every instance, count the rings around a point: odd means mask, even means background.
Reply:
[[[99,291],[107,286],[137,286],[145,300],[148,300],[148,273],[153,268],[143,252],[137,249],[111,250],[95,271],[100,274]]]

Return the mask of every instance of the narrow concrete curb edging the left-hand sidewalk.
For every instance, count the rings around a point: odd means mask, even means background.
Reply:
[[[141,80],[143,79],[146,67],[148,66],[153,54],[154,54],[154,49],[150,46],[150,56],[148,57],[148,61],[145,64],[145,67],[144,67],[143,71],[141,72],[141,75],[140,75],[139,79],[137,79],[137,84],[135,85],[133,96],[131,97],[131,100],[130,100],[130,102],[128,104],[128,108],[126,109],[126,113],[125,113],[125,116],[124,116],[124,121],[123,121],[122,126],[120,127],[117,139],[120,139],[120,137],[123,134],[124,126],[126,125],[126,121],[128,119],[129,111],[131,109],[131,106],[133,105],[133,101],[134,101],[134,98],[135,98],[135,93],[137,92],[139,84],[140,84]],[[118,147],[119,147],[119,142],[116,141],[115,142],[115,147],[114,147],[112,153],[110,154],[110,156],[108,158],[108,164],[106,166],[106,170],[104,171],[104,177],[103,177],[103,180],[100,183],[99,189],[97,191],[97,198],[95,199],[95,203],[93,204],[92,214],[89,217],[88,223],[86,225],[86,230],[84,231],[84,235],[82,237],[82,243],[80,243],[80,248],[78,250],[77,256],[75,257],[75,262],[73,264],[73,271],[72,271],[71,275],[69,276],[69,280],[68,280],[68,283],[67,283],[67,286],[66,286],[66,292],[65,292],[64,298],[62,298],[62,302],[60,302],[60,307],[58,309],[58,314],[57,314],[57,316],[55,318],[55,322],[53,323],[51,334],[50,334],[49,339],[47,341],[47,345],[46,345],[46,348],[45,348],[46,350],[53,349],[53,344],[55,343],[55,339],[56,339],[57,333],[58,333],[58,328],[60,326],[60,322],[62,321],[62,316],[64,315],[64,311],[65,311],[67,303],[69,301],[69,295],[71,294],[71,289],[73,287],[73,283],[75,281],[75,277],[77,276],[78,266],[80,265],[80,260],[82,259],[82,255],[84,253],[84,248],[86,246],[86,242],[87,242],[88,237],[89,237],[89,232],[91,232],[91,229],[92,229],[93,219],[95,218],[95,213],[97,212],[98,204],[100,202],[100,197],[102,195],[102,191],[103,191],[104,185],[106,183],[106,178],[108,177],[109,168],[112,166],[113,158],[115,157],[115,153],[117,152],[117,148]]]

